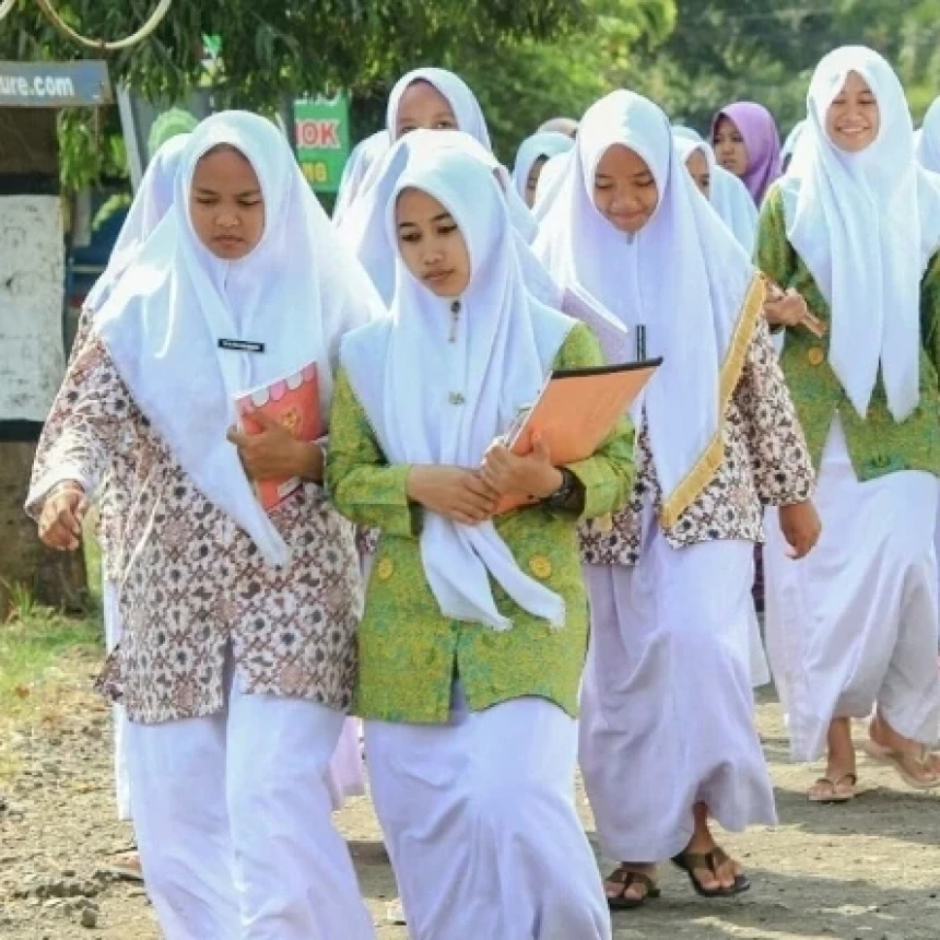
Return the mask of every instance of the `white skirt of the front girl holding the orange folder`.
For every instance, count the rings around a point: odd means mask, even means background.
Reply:
[[[456,685],[450,724],[366,721],[365,742],[411,940],[609,940],[561,708],[471,713]]]

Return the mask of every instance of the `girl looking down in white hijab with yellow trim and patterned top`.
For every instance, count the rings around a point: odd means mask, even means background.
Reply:
[[[663,364],[634,410],[638,480],[610,532],[586,532],[591,645],[580,764],[612,907],[658,894],[673,858],[709,897],[747,890],[715,843],[775,821],[752,721],[754,543],[780,506],[794,550],[816,536],[812,471],[743,249],[695,190],[666,115],[631,92],[594,105],[537,254]]]

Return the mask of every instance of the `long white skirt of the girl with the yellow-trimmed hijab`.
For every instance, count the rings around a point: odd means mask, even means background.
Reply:
[[[677,855],[696,802],[731,831],[776,822],[747,658],[753,551],[745,541],[672,549],[647,513],[635,567],[585,569],[580,764],[610,858]]]

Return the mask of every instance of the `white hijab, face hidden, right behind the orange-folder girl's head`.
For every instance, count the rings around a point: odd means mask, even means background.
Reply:
[[[515,224],[517,213],[514,202],[520,202],[492,152],[482,146],[470,134],[457,130],[414,130],[397,141],[386,154],[376,172],[371,175],[366,191],[356,200],[339,226],[340,238],[359,258],[372,278],[380,297],[391,303],[395,294],[396,256],[395,238],[389,238],[385,224],[388,204],[398,188],[399,178],[415,154],[432,150],[462,150],[485,165],[500,180],[507,202],[514,242],[530,292],[549,306],[560,303],[560,289],[539,263],[528,246],[528,231],[520,232]],[[522,205],[526,209],[525,205]],[[528,213],[528,210],[526,210]],[[531,214],[529,213],[531,219]]]

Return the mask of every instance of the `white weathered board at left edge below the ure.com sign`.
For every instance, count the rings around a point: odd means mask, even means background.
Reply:
[[[0,197],[0,421],[45,421],[62,381],[62,238],[58,197]]]

